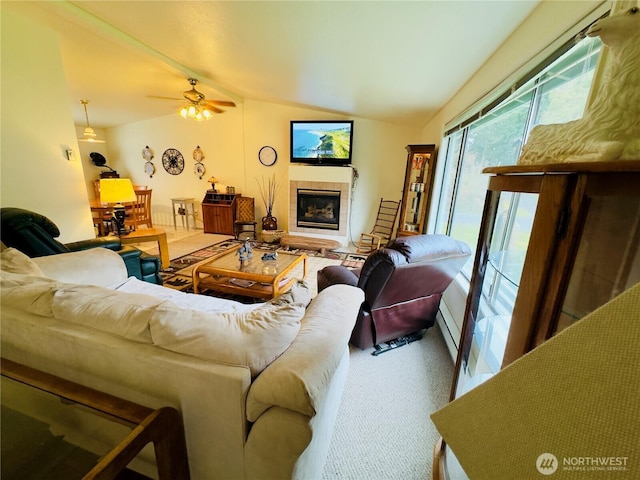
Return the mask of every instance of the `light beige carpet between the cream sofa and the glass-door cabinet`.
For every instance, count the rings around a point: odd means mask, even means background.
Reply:
[[[449,398],[453,362],[438,327],[380,356],[351,347],[324,480],[431,478],[439,438],[429,414]]]

